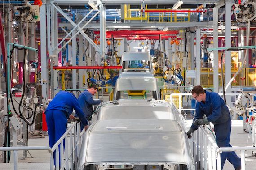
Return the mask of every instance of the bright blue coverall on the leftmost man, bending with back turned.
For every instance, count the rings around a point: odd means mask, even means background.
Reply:
[[[67,119],[73,112],[73,109],[75,109],[75,112],[79,116],[81,123],[86,126],[88,124],[87,119],[84,117],[84,112],[80,108],[78,99],[73,93],[60,91],[56,94],[56,96],[46,108],[46,123],[48,127],[49,146],[51,148],[66,132]],[[65,141],[63,143],[65,148]],[[53,154],[53,158],[54,165],[56,165],[55,153]]]

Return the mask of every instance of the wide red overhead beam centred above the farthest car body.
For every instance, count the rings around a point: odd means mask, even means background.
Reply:
[[[179,34],[180,31],[150,31],[150,30],[118,30],[118,31],[106,31],[106,34],[113,35],[165,35],[165,34]],[[100,34],[100,31],[94,31],[94,34]]]

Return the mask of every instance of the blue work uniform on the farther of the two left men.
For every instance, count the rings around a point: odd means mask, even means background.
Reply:
[[[92,105],[98,105],[101,103],[100,100],[93,100],[93,95],[88,90],[84,90],[84,92],[80,94],[78,101],[83,112],[86,114],[86,119],[89,119],[93,114]]]

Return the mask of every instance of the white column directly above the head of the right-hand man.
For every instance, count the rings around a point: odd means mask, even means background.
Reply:
[[[196,82],[194,85],[201,84],[201,31],[196,29]]]

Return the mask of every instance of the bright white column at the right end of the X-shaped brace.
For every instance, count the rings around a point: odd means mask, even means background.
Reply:
[[[101,65],[101,59],[105,57],[105,44],[106,44],[106,9],[105,5],[101,2],[100,6],[100,48],[101,57],[97,59],[98,65]]]

